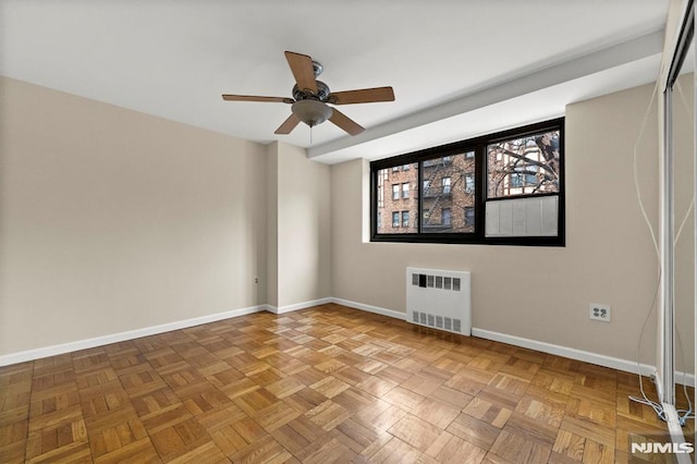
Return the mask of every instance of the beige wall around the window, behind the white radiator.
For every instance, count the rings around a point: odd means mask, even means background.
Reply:
[[[658,279],[633,178],[633,148],[651,89],[567,107],[567,233],[561,248],[366,243],[368,164],[333,166],[333,296],[404,312],[405,267],[469,270],[474,327],[635,359]],[[655,222],[656,111],[637,154],[639,183]],[[589,320],[589,303],[611,305],[612,321]],[[653,327],[655,314],[641,344],[641,361],[648,364],[655,363]]]

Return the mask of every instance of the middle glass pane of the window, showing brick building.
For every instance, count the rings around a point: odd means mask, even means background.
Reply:
[[[467,152],[421,163],[423,233],[474,233],[475,158]],[[467,208],[472,209],[469,218]]]

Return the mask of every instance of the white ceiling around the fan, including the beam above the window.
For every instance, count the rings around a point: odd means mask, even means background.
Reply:
[[[566,103],[656,80],[669,0],[0,0],[0,74],[333,163],[377,159],[553,118]],[[341,107],[273,131],[291,96],[284,50],[332,90],[391,85],[396,101]]]

